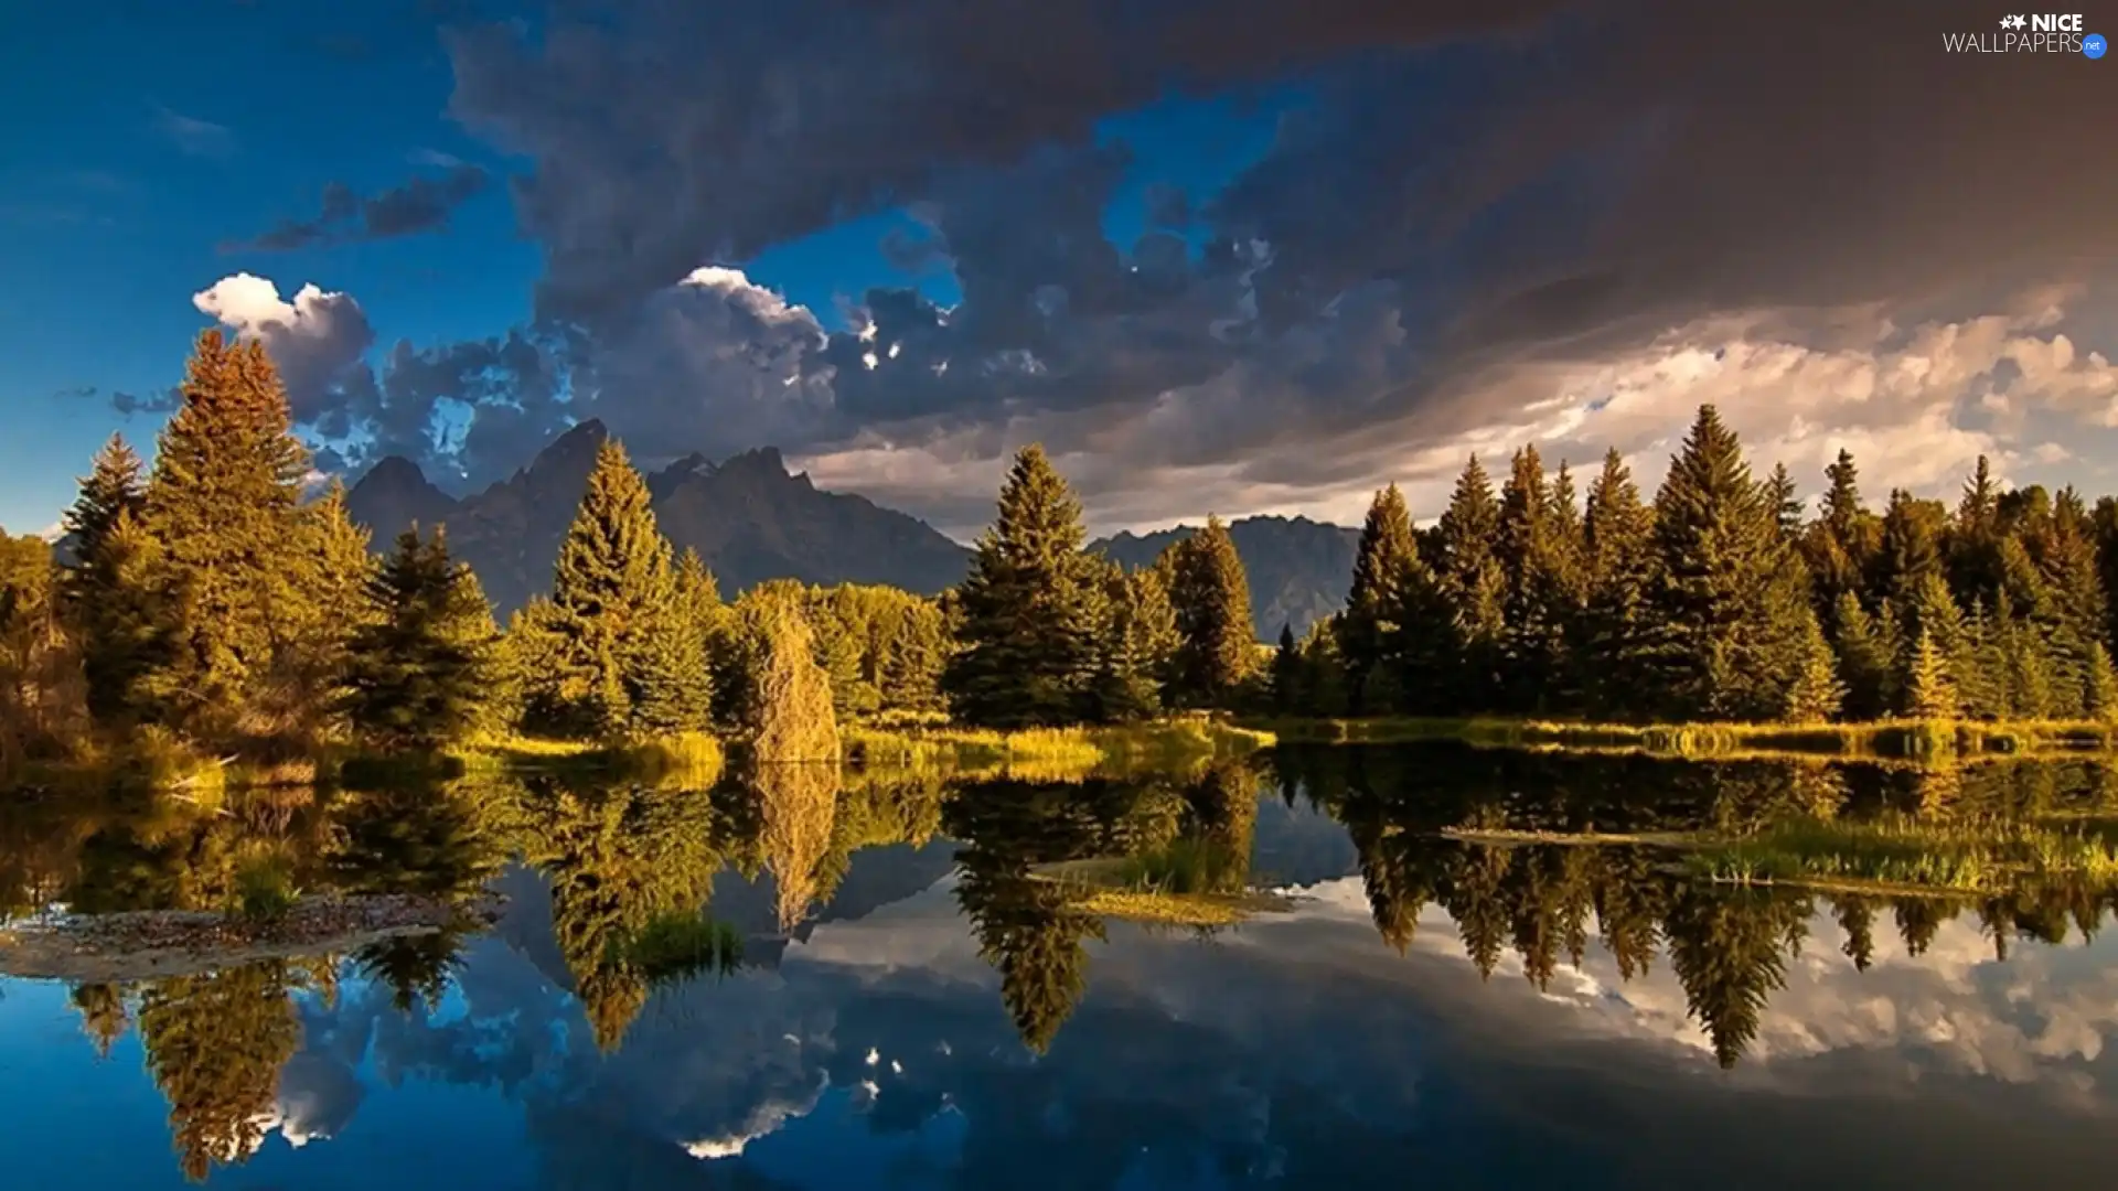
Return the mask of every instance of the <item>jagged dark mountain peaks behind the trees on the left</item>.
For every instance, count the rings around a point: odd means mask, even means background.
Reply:
[[[606,437],[602,422],[582,422],[523,470],[462,500],[392,456],[360,477],[347,509],[375,534],[377,549],[413,521],[447,526],[449,549],[479,572],[506,615],[549,589],[559,540]],[[926,521],[862,496],[818,492],[807,475],[788,475],[771,447],[722,464],[690,456],[650,475],[648,490],[663,534],[678,549],[697,549],[724,596],[767,579],[936,593],[959,581],[970,559]]]

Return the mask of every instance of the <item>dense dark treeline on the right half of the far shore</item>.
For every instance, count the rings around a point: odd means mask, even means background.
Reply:
[[[2002,490],[1985,458],[1955,509],[1862,502],[1847,451],[1805,519],[1701,407],[1652,502],[1608,454],[1576,504],[1565,464],[1476,458],[1413,530],[1396,487],[1362,530],[1347,608],[1281,636],[1273,697],[1305,714],[1614,721],[2118,716],[2118,500]]]

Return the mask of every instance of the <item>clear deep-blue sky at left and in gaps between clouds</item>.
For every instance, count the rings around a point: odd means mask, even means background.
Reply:
[[[417,28],[354,32],[326,6],[23,6],[4,19],[0,100],[36,110],[0,163],[0,526],[51,526],[74,477],[112,430],[150,449],[159,417],[123,417],[108,392],[144,394],[180,377],[212,318],[191,295],[254,271],[284,295],[303,284],[358,297],[379,350],[504,333],[530,318],[536,244],[517,235],[504,186],[457,208],[445,233],[313,246],[233,248],[318,206],[326,182],[366,195],[460,159],[496,174],[523,163],[447,114],[451,66]],[[360,42],[356,42],[360,38]],[[390,38],[383,42],[383,38]],[[1099,123],[1142,165],[1106,214],[1131,244],[1146,229],[1150,180],[1209,193],[1271,144],[1277,106],[1165,102]],[[746,265],[754,282],[807,305],[830,328],[870,286],[909,284],[940,305],[947,269],[907,273],[881,239],[911,220],[864,214],[775,244]],[[95,390],[93,394],[85,390]]]

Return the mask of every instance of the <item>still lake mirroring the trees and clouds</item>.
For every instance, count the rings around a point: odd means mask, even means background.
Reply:
[[[506,896],[0,979],[0,1172],[108,1189],[2088,1187],[2103,763],[1288,748],[112,795],[0,907]]]

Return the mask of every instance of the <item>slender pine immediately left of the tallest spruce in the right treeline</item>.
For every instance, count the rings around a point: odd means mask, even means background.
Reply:
[[[1588,661],[1588,704],[1603,714],[1641,708],[1650,644],[1654,513],[1641,504],[1633,473],[1616,449],[1588,487],[1586,583],[1576,653]]]

